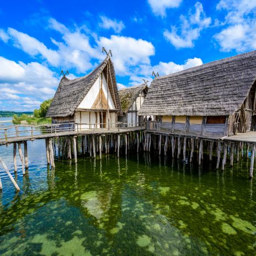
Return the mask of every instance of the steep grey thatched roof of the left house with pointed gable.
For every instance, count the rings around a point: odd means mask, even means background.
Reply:
[[[113,82],[113,89],[111,89],[111,80],[109,78],[110,93],[112,98],[116,99],[116,110],[119,110],[119,113],[122,114],[121,104],[118,97],[118,87],[116,86],[114,65],[110,60],[110,57],[106,56],[105,60],[100,63],[100,65],[95,68],[95,70],[87,74],[87,76],[78,77],[76,79],[68,79],[63,76],[46,116],[57,117],[73,115],[74,111],[82,102],[84,97],[86,97],[86,94],[89,92],[90,88],[92,88],[100,74],[103,72],[104,76],[106,77],[106,67],[108,63]]]

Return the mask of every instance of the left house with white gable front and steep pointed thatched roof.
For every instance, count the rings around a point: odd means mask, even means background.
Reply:
[[[108,55],[87,76],[63,76],[47,111],[53,124],[76,123],[78,129],[115,127],[121,115],[113,62]]]

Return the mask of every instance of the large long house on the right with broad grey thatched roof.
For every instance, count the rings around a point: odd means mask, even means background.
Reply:
[[[139,115],[150,129],[204,137],[256,129],[256,51],[156,77]]]

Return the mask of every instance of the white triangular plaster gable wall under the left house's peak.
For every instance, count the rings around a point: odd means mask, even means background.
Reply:
[[[103,81],[102,81],[102,89],[104,92],[104,95],[106,99],[108,99],[108,93],[107,93],[107,85],[106,85],[106,79],[103,74]],[[90,109],[92,108],[93,103],[95,102],[95,99],[97,98],[100,90],[100,77],[95,81],[92,88],[90,88],[89,92],[87,93],[86,97],[82,100],[82,102],[79,104],[78,109]],[[115,109],[114,101],[111,97],[110,91],[109,91],[109,108]]]

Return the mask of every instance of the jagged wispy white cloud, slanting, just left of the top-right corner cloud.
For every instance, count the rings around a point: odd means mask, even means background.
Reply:
[[[194,47],[194,41],[199,38],[203,29],[207,28],[211,24],[211,18],[206,17],[202,4],[196,2],[195,12],[189,12],[188,17],[184,15],[180,16],[180,34],[178,34],[178,28],[172,26],[172,30],[165,30],[164,37],[175,46],[175,48],[191,48]]]

